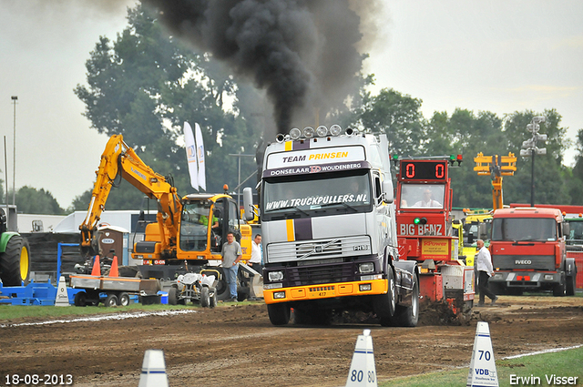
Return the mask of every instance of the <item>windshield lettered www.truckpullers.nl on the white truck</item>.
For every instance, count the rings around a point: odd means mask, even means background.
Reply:
[[[265,180],[263,214],[318,209],[365,211],[371,206],[371,183],[367,170],[323,173]]]

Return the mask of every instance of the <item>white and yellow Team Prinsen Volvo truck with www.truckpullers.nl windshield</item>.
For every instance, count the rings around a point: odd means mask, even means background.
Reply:
[[[415,261],[399,260],[385,135],[295,128],[262,160],[263,297],[271,323],[326,324],[333,311],[373,312],[383,326],[415,326]],[[252,219],[252,191],[243,190]]]

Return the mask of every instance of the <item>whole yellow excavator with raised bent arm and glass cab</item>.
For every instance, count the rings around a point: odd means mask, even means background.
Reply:
[[[211,264],[222,260],[220,250],[228,232],[240,242],[242,260],[251,258],[251,226],[240,222],[239,206],[226,186],[222,194],[180,198],[171,178],[149,168],[121,135],[109,138],[96,174],[87,217],[79,226],[81,250],[87,256],[99,253],[99,219],[111,188],[123,178],[158,204],[156,222],[146,226],[144,240],[137,241],[131,253],[142,261],[139,270],[144,278],[176,278],[180,271],[203,268],[220,271],[222,278],[220,268]]]

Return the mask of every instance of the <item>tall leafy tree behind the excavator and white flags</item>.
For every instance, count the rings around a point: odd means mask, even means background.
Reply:
[[[238,87],[224,66],[181,45],[141,5],[128,10],[128,27],[115,42],[99,38],[86,66],[87,86],[78,85],[75,93],[99,133],[122,134],[149,167],[172,179],[185,195],[194,189],[182,127],[185,121],[199,123],[207,191],[237,185],[237,159],[229,154],[254,153],[261,132],[247,125],[236,108],[225,106],[227,97],[237,100]],[[255,168],[252,162],[242,167],[244,176]],[[86,198],[87,192],[79,197]],[[121,182],[112,189],[107,209],[136,209],[141,202],[138,189]]]

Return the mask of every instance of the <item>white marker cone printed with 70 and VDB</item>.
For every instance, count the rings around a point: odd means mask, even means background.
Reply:
[[[490,328],[485,321],[478,321],[477,323],[474,351],[472,351],[472,362],[470,362],[470,372],[467,374],[466,386],[498,387],[498,375],[496,362],[494,361],[494,351],[492,350]]]

